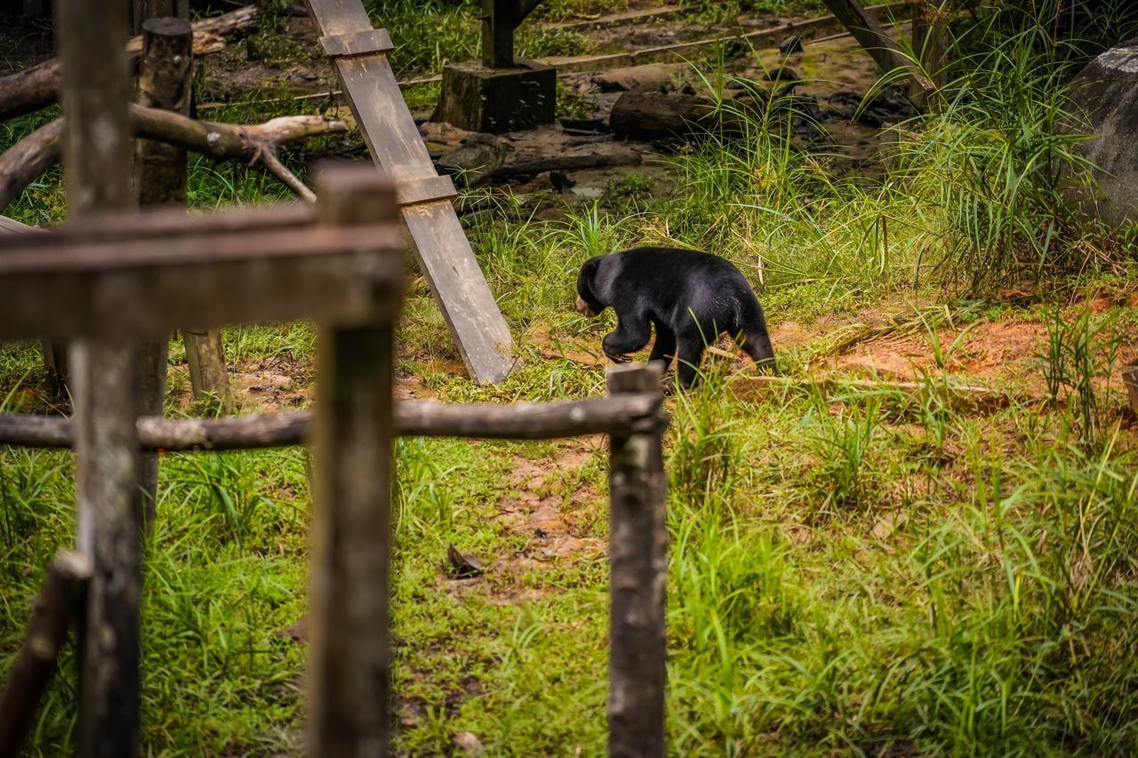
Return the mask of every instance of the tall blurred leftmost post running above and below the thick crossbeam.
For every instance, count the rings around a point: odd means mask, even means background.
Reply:
[[[56,47],[66,118],[69,219],[133,205],[126,15],[118,0],[59,0]],[[79,547],[92,566],[80,672],[80,756],[139,755],[137,345],[72,346]]]

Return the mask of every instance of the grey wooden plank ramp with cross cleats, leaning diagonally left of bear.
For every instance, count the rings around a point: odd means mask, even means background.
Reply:
[[[360,0],[306,2],[371,156],[396,182],[411,245],[467,371],[479,384],[501,381],[513,340],[451,204],[454,184],[435,171],[387,61],[387,30],[372,27]]]

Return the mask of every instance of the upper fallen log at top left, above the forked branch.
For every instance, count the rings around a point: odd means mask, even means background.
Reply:
[[[256,20],[256,7],[248,6],[223,16],[193,22],[193,55],[205,56],[224,50],[225,34],[251,26]],[[131,38],[126,42],[126,56],[132,67],[138,65],[140,55],[142,38]],[[0,121],[48,107],[59,97],[61,81],[58,58],[0,76]]]

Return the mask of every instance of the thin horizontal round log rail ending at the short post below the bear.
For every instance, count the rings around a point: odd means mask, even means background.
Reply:
[[[648,431],[660,422],[660,398],[652,393],[621,394],[566,403],[531,405],[452,405],[423,401],[395,404],[395,430],[401,437],[464,437],[468,439],[555,439],[579,435]],[[223,419],[138,420],[143,451],[254,450],[308,442],[312,413],[294,411]],[[0,414],[0,445],[71,447],[69,419]]]

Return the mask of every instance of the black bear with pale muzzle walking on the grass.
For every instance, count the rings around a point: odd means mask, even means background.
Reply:
[[[678,357],[685,389],[696,380],[703,349],[723,333],[760,368],[775,369],[762,306],[739,269],[717,255],[637,247],[589,258],[577,277],[577,311],[596,316],[610,306],[617,328],[601,349],[616,363],[643,349],[655,327],[649,360],[670,364]]]

